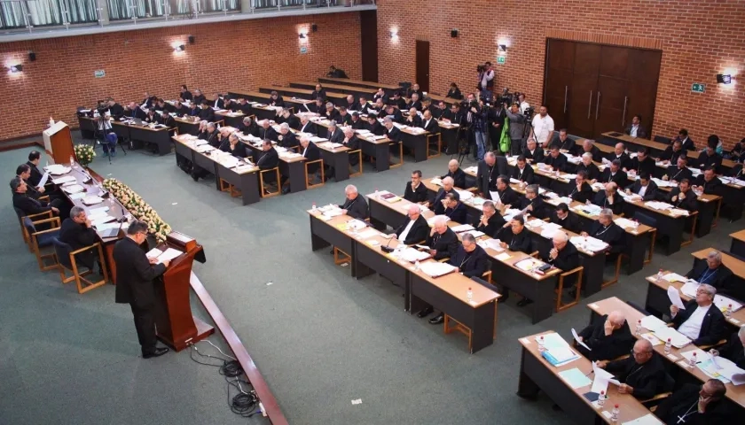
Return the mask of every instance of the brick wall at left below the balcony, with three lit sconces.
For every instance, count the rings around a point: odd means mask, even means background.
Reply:
[[[318,32],[310,32],[310,25]],[[306,29],[307,53],[298,33]],[[189,45],[187,37],[196,42]],[[176,53],[172,45],[185,44]],[[36,61],[29,62],[27,50]],[[313,81],[333,64],[361,78],[359,13],[252,19],[127,31],[105,35],[0,43],[2,66],[23,64],[23,72],[0,72],[0,140],[38,135],[50,115],[77,127],[75,107],[112,96],[141,101],[145,90],[174,98],[180,84],[208,97],[228,89],[256,89]],[[4,68],[7,69],[7,68]],[[94,78],[94,70],[106,71]]]

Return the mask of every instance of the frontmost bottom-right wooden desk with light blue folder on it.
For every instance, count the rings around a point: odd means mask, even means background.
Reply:
[[[580,424],[612,423],[602,412],[607,412],[608,417],[613,406],[620,406],[617,424],[633,421],[642,416],[650,414],[647,407],[639,403],[639,400],[630,394],[621,394],[616,385],[608,385],[607,399],[605,405],[600,409],[584,398],[592,385],[573,389],[559,376],[559,373],[578,368],[582,373],[590,375],[592,372],[592,361],[582,357],[567,365],[554,367],[546,361],[538,351],[536,337],[553,333],[548,330],[540,334],[525,336],[519,339],[522,346],[520,360],[520,378],[518,381],[517,395],[521,398],[535,399],[538,391],[545,394],[559,405],[564,413],[569,414],[571,419]]]

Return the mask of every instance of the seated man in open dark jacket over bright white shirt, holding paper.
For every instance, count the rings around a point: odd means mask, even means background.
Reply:
[[[685,309],[670,305],[670,317],[678,332],[691,338],[695,345],[717,344],[726,336],[725,316],[714,305],[717,289],[702,283],[696,290],[696,298],[686,304]]]

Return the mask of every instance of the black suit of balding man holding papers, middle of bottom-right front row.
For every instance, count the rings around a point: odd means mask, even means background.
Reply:
[[[630,356],[627,359],[611,361],[606,370],[616,375],[621,383],[631,386],[634,389],[633,396],[639,400],[653,398],[664,390],[665,365],[657,353],[652,353],[652,358],[643,365],[639,365],[634,356]]]

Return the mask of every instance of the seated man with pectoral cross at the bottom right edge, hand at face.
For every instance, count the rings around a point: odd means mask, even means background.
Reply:
[[[703,385],[685,383],[657,406],[655,416],[665,425],[735,423],[725,400],[726,392],[725,384],[714,378]]]

